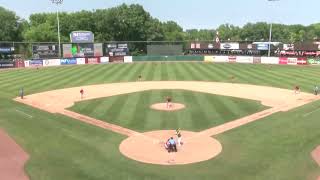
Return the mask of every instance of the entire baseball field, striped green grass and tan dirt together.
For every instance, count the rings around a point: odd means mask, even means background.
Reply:
[[[28,154],[32,180],[315,180],[319,75],[317,66],[200,62],[5,70],[0,127]],[[166,96],[185,107],[150,108]],[[165,165],[160,144],[177,128],[185,144]]]

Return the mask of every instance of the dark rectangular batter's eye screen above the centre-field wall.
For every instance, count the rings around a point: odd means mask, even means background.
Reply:
[[[182,45],[148,45],[147,46],[148,55],[181,55]]]

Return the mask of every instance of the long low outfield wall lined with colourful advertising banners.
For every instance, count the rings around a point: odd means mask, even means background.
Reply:
[[[295,57],[257,57],[257,56],[124,56],[63,59],[32,59],[0,61],[0,68],[50,67],[61,65],[107,64],[111,62],[155,62],[155,61],[196,61],[208,63],[242,63],[242,64],[274,64],[274,65],[320,65],[320,58]]]

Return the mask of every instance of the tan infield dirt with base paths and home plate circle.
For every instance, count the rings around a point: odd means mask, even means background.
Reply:
[[[85,91],[83,99],[80,98],[79,93],[81,88]],[[168,153],[164,148],[164,142],[169,137],[175,136],[172,130],[139,133],[66,109],[73,106],[75,102],[82,100],[139,91],[166,89],[191,90],[194,92],[251,99],[260,101],[263,105],[270,108],[201,132],[182,131],[182,141],[184,144],[181,147],[178,146],[177,153]],[[222,151],[222,145],[211,136],[256,121],[276,112],[288,111],[318,99],[319,97],[309,93],[301,92],[295,94],[292,90],[256,85],[199,81],[146,81],[53,90],[28,95],[25,99],[16,98],[15,100],[51,113],[60,113],[129,136],[119,146],[119,150],[128,158],[144,163],[178,165],[201,162],[217,156]]]

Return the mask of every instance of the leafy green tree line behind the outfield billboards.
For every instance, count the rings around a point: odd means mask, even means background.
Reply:
[[[36,13],[24,20],[15,12],[0,7],[0,41],[57,42],[55,13]],[[216,29],[183,28],[174,21],[162,22],[141,5],[122,4],[109,9],[60,13],[62,42],[69,42],[72,31],[92,31],[95,41],[208,41],[219,32],[221,41],[267,41],[269,24],[247,23],[243,27],[231,24]],[[273,25],[273,41],[295,43],[320,38],[320,23],[303,25]]]

